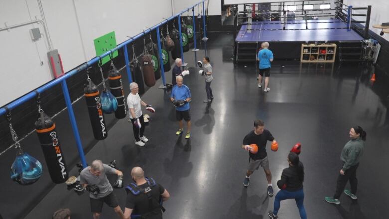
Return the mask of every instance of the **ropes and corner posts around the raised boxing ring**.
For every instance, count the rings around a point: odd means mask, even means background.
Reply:
[[[323,0],[310,0],[311,1],[323,1]],[[367,7],[354,7],[351,5],[346,5],[339,0],[335,0],[334,3],[336,4],[336,7],[334,9],[304,9],[304,5],[321,5],[321,4],[326,4],[326,3],[319,3],[319,4],[304,4],[305,1],[294,1],[294,2],[302,2],[302,4],[287,4],[285,5],[285,2],[279,2],[279,5],[271,5],[271,7],[282,7],[282,10],[255,10],[255,4],[253,5],[254,11],[252,11],[252,14],[256,14],[256,12],[263,13],[263,12],[278,12],[281,13],[283,16],[284,21],[283,22],[253,22],[253,24],[260,24],[260,29],[252,29],[252,28],[247,28],[246,31],[272,31],[272,30],[315,30],[315,29],[346,29],[347,31],[351,31],[353,27],[353,23],[365,23],[365,28],[354,28],[354,29],[360,29],[364,30],[364,38],[367,38],[368,33],[369,33],[369,24],[370,24],[370,13],[371,13],[371,6]],[[291,2],[287,2],[291,3]],[[328,3],[327,3],[328,4]],[[246,5],[246,4],[245,4]],[[285,6],[302,6],[303,9],[301,10],[285,10]],[[258,7],[264,7],[264,5],[258,5]],[[366,14],[357,14],[353,13],[353,10],[367,10]],[[346,27],[338,27],[338,28],[308,28],[308,20],[305,20],[303,23],[305,23],[305,28],[304,29],[286,29],[286,24],[298,24],[300,22],[298,21],[291,21],[287,22],[287,12],[301,12],[301,15],[296,14],[294,17],[304,17],[304,16],[315,16],[315,17],[330,17],[333,14],[332,13],[321,13],[322,15],[314,15],[314,14],[304,14],[304,12],[312,12],[312,11],[335,11],[335,17],[338,18],[340,21],[346,23]],[[246,19],[246,18],[251,18],[252,15],[247,15],[247,10],[244,10],[243,12],[240,12],[238,14],[243,14],[244,17],[239,17],[238,19]],[[237,15],[238,15],[237,14]],[[280,14],[280,15],[281,15]],[[260,14],[259,14],[260,15]],[[353,16],[365,16],[366,20],[365,21],[357,21],[353,20]],[[339,23],[339,21],[328,21],[328,22],[309,22],[309,23]],[[283,24],[282,29],[262,29],[262,25],[264,24]],[[244,23],[242,25],[248,25],[249,27],[251,26],[249,23]],[[242,26],[238,25],[238,26]]]

